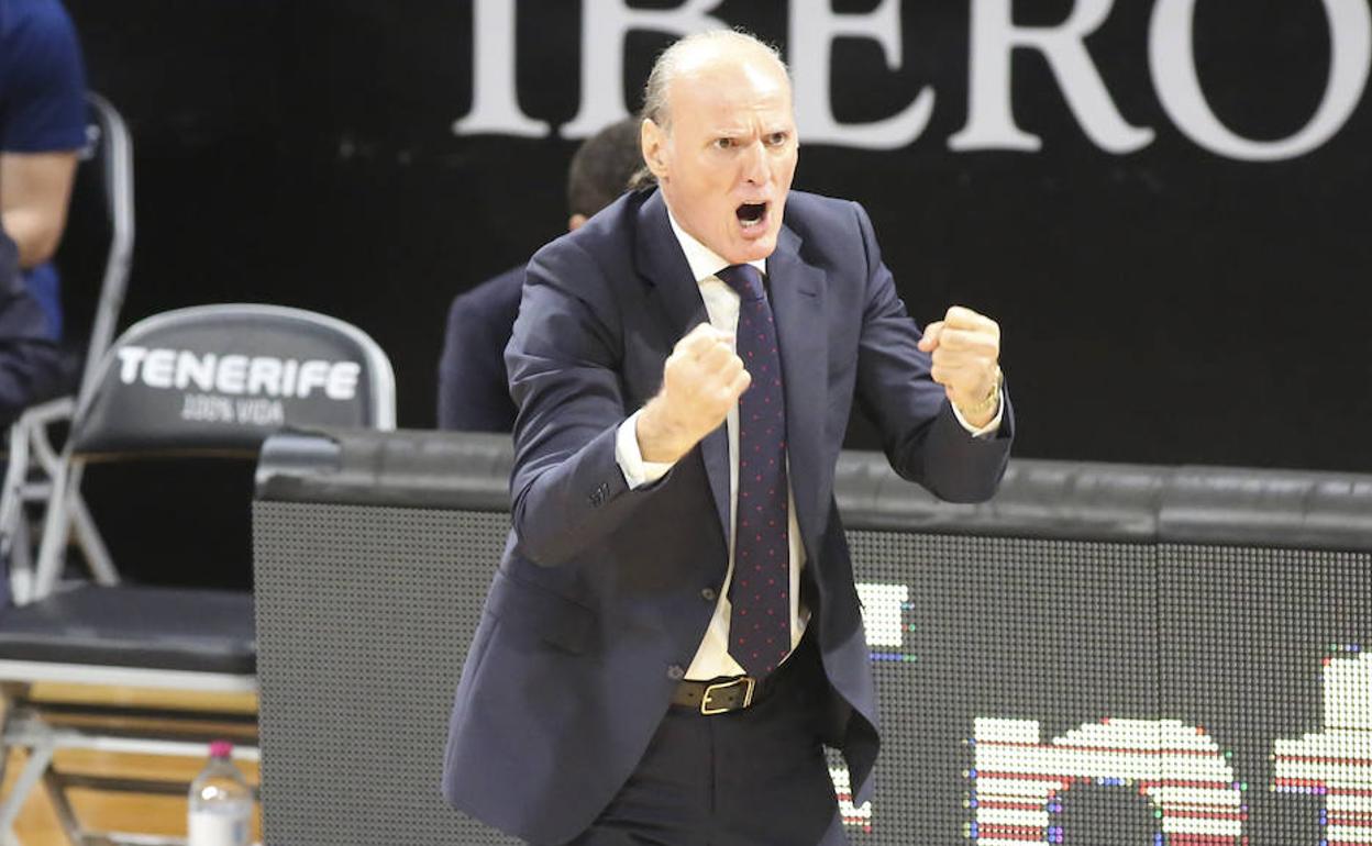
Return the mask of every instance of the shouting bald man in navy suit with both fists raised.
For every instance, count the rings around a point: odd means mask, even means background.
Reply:
[[[847,842],[877,703],[833,498],[855,396],[903,477],[992,495],[997,325],[906,314],[855,203],[789,193],[790,84],[735,32],[645,92],[657,191],[528,266],[506,350],[513,531],[458,684],[445,793],[531,843]]]

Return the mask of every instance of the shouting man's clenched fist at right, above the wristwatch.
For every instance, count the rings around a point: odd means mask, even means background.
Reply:
[[[929,324],[919,348],[932,354],[933,380],[944,387],[973,426],[989,424],[1000,409],[1000,325],[971,309],[954,306]]]

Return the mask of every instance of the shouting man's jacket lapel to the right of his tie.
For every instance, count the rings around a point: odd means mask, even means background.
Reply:
[[[786,377],[786,455],[796,521],[815,561],[811,539],[820,525],[819,466],[825,410],[829,407],[829,328],[825,322],[825,271],[800,255],[800,237],[782,226],[767,259],[767,278]]]

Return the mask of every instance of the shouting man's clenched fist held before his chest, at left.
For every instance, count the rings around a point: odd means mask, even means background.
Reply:
[[[643,461],[671,463],[719,428],[752,377],[730,333],[701,324],[676,341],[663,366],[663,388],[638,415]]]

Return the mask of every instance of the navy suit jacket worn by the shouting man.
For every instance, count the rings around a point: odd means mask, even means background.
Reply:
[[[792,192],[767,277],[804,599],[833,687],[827,740],[862,802],[877,702],[833,496],[849,407],[864,403],[897,473],[959,502],[992,495],[1014,421],[1007,407],[989,439],[958,424],[856,203]],[[513,529],[458,684],[443,788],[532,843],[573,838],[609,803],[715,610],[729,550],[724,426],[645,488],[631,491],[615,459],[620,422],[705,319],[657,192],[626,195],[528,266],[505,354],[520,406]]]

